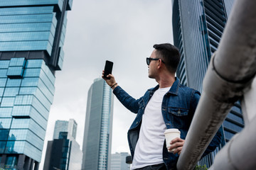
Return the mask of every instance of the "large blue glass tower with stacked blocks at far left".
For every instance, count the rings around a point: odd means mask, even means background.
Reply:
[[[38,169],[72,0],[0,1],[0,167]]]

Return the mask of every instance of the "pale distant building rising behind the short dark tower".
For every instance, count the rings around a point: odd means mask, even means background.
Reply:
[[[76,123],[74,119],[68,121],[57,120],[55,121],[53,140],[59,139],[60,132],[68,132],[68,135],[75,139],[77,128],[78,123]],[[68,137],[68,139],[70,139],[70,137]]]

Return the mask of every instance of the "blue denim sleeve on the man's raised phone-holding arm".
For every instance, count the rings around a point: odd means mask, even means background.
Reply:
[[[117,96],[117,99],[133,113],[138,113],[139,111],[139,101],[142,101],[142,97],[135,99],[129,96],[126,91],[124,91],[120,86],[114,88],[113,94]]]

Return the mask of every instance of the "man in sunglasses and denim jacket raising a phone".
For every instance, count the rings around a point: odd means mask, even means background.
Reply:
[[[119,101],[137,117],[128,131],[128,142],[133,157],[132,169],[176,169],[178,155],[191,124],[200,93],[180,84],[175,72],[180,60],[178,49],[169,43],[154,45],[154,51],[146,64],[149,78],[158,85],[146,91],[144,96],[134,99],[115,81],[112,74],[102,78],[113,89]],[[166,148],[164,131],[177,128],[181,138],[171,141]],[[220,144],[220,132],[206,149],[204,155],[212,152]],[[170,152],[175,149],[174,152]]]

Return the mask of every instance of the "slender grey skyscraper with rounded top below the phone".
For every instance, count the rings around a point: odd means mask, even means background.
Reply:
[[[110,169],[113,94],[104,79],[95,79],[88,91],[82,169]]]

